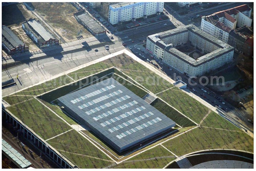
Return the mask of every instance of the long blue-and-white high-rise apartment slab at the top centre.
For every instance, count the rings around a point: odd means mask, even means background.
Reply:
[[[120,2],[109,5],[109,22],[114,25],[163,12],[164,2]]]

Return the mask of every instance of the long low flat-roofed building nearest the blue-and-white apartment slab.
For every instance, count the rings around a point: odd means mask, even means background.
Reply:
[[[106,34],[106,29],[99,24],[94,18],[92,18],[88,13],[81,10],[74,13],[74,17],[77,21],[82,24],[93,36],[99,36]]]

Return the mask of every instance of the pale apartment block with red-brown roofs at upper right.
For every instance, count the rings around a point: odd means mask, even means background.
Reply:
[[[252,9],[246,4],[209,16],[202,16],[201,30],[227,43],[231,30],[236,27],[251,26]]]

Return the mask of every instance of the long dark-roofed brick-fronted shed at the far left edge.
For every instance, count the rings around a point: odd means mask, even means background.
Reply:
[[[2,47],[10,55],[28,51],[28,46],[25,46],[25,43],[23,43],[7,26],[2,26]]]

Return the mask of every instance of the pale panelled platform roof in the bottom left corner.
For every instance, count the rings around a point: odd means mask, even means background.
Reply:
[[[12,160],[21,168],[25,168],[31,165],[31,163],[25,157],[23,157],[23,155],[21,155],[17,150],[15,150],[4,139],[2,139],[2,151],[10,158],[12,158]]]

